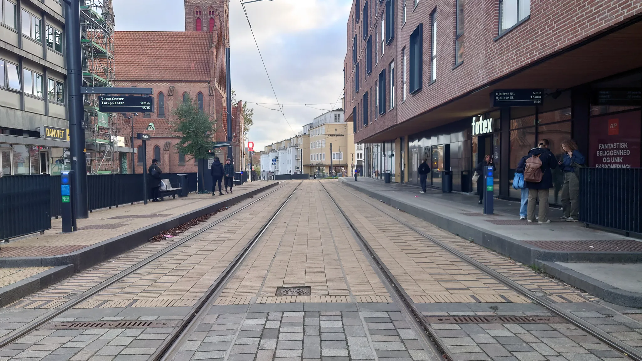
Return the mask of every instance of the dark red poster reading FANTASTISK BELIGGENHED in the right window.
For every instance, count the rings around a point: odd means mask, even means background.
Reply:
[[[589,166],[639,168],[640,111],[591,118]]]

